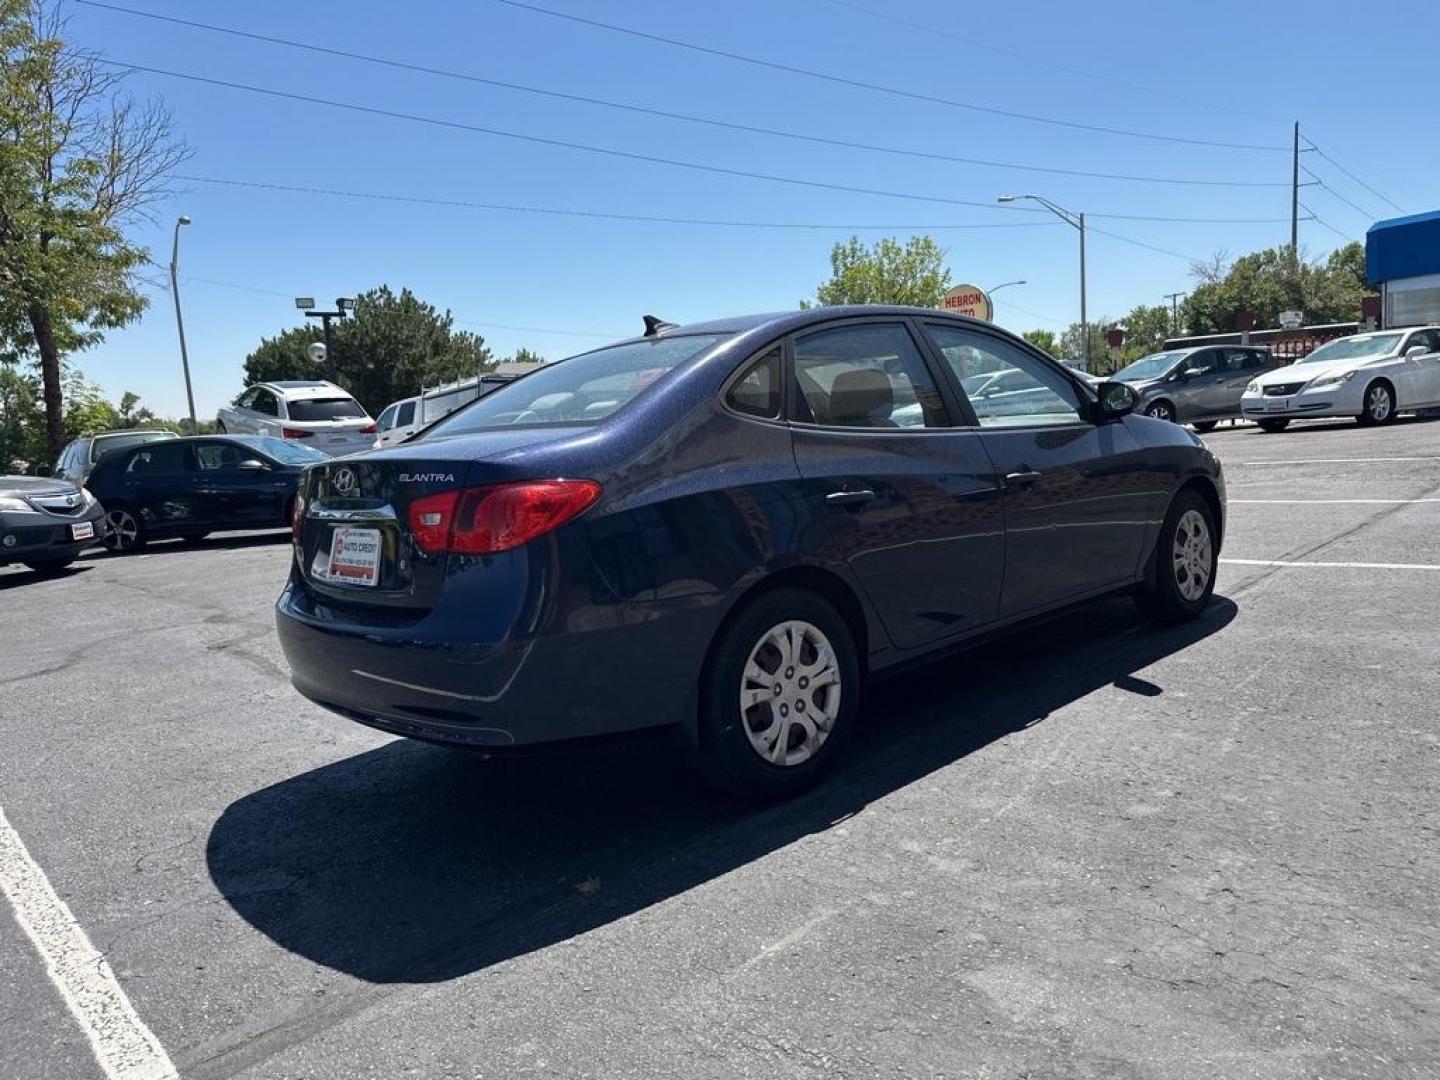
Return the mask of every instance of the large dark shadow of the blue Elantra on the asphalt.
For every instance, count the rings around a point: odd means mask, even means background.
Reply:
[[[1092,605],[877,683],[816,791],[753,808],[711,793],[670,740],[478,760],[396,740],[233,802],[206,857],[225,899],[279,946],[370,982],[465,975],[644,910],[1117,684],[1223,629],[1151,628]],[[344,723],[336,720],[336,723]]]

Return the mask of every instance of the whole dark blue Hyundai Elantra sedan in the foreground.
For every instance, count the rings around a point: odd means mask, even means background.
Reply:
[[[1116,592],[1204,609],[1220,462],[1133,405],[933,310],[647,317],[308,469],[281,644],[302,694],[386,732],[494,753],[671,726],[783,796],[874,672]]]

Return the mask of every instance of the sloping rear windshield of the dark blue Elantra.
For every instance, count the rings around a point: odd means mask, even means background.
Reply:
[[[431,428],[426,435],[468,435],[549,423],[599,423],[672,367],[726,337],[729,334],[660,337],[559,360],[471,402]]]

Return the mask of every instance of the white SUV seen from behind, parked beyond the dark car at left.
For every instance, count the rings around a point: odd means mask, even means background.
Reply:
[[[354,454],[374,445],[376,425],[343,387],[327,382],[256,383],[216,413],[229,435],[272,435],[328,454]]]

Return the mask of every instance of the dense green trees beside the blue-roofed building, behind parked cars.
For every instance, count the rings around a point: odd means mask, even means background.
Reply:
[[[1368,291],[1364,262],[1358,242],[1323,264],[1293,258],[1289,248],[1266,248],[1228,266],[1217,258],[1192,268],[1200,284],[1181,305],[1182,321],[1192,334],[1236,330],[1241,311],[1256,317],[1257,328],[1279,325],[1282,311],[1303,311],[1306,323],[1351,323]]]

